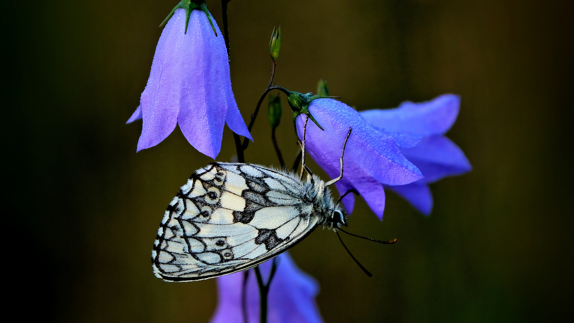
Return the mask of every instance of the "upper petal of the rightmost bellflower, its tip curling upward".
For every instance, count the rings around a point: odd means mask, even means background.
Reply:
[[[443,134],[455,123],[459,114],[460,97],[443,94],[427,102],[402,102],[394,109],[361,111],[367,121],[389,132],[416,136]]]

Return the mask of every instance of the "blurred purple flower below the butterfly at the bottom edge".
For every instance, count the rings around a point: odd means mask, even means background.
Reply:
[[[267,281],[273,260],[259,265],[263,281]],[[243,272],[220,276],[218,306],[211,323],[243,323],[241,292]],[[246,304],[250,323],[259,322],[259,289],[255,273],[250,269],[247,279]],[[277,271],[267,294],[267,318],[274,323],[319,323],[321,314],[315,303],[319,286],[315,279],[297,268],[288,253],[277,256]]]

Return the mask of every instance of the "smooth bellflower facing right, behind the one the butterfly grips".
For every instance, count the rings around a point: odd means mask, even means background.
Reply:
[[[428,184],[472,169],[463,151],[443,136],[455,123],[459,107],[458,95],[443,94],[428,102],[406,101],[394,109],[360,112],[363,118],[378,128],[422,138],[414,147],[401,148],[401,151],[425,177],[414,183],[385,187],[401,195],[425,216],[430,214],[433,206]]]

